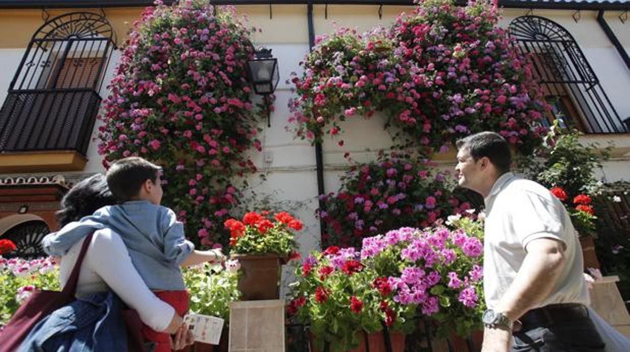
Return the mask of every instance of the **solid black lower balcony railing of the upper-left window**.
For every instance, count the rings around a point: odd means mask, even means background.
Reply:
[[[9,92],[0,151],[76,150],[86,155],[101,98],[93,89]]]

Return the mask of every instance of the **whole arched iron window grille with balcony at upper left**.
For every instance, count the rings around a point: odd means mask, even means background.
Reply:
[[[115,40],[112,26],[95,13],[68,13],[41,26],[0,110],[0,152],[85,155]]]

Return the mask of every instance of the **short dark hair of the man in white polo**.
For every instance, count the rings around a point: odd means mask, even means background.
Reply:
[[[457,149],[467,149],[474,161],[488,157],[499,174],[510,171],[512,153],[510,146],[500,134],[495,132],[479,132],[455,142]]]

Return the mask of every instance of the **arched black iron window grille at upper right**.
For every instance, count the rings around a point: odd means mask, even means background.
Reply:
[[[587,133],[630,132],[575,39],[562,26],[539,16],[521,16],[510,23],[509,33],[518,50],[532,59],[561,127]]]

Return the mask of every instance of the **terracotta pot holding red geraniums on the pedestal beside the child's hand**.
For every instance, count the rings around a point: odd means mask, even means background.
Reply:
[[[234,254],[241,263],[243,275],[238,289],[241,300],[277,300],[280,298],[280,257],[277,254]]]

